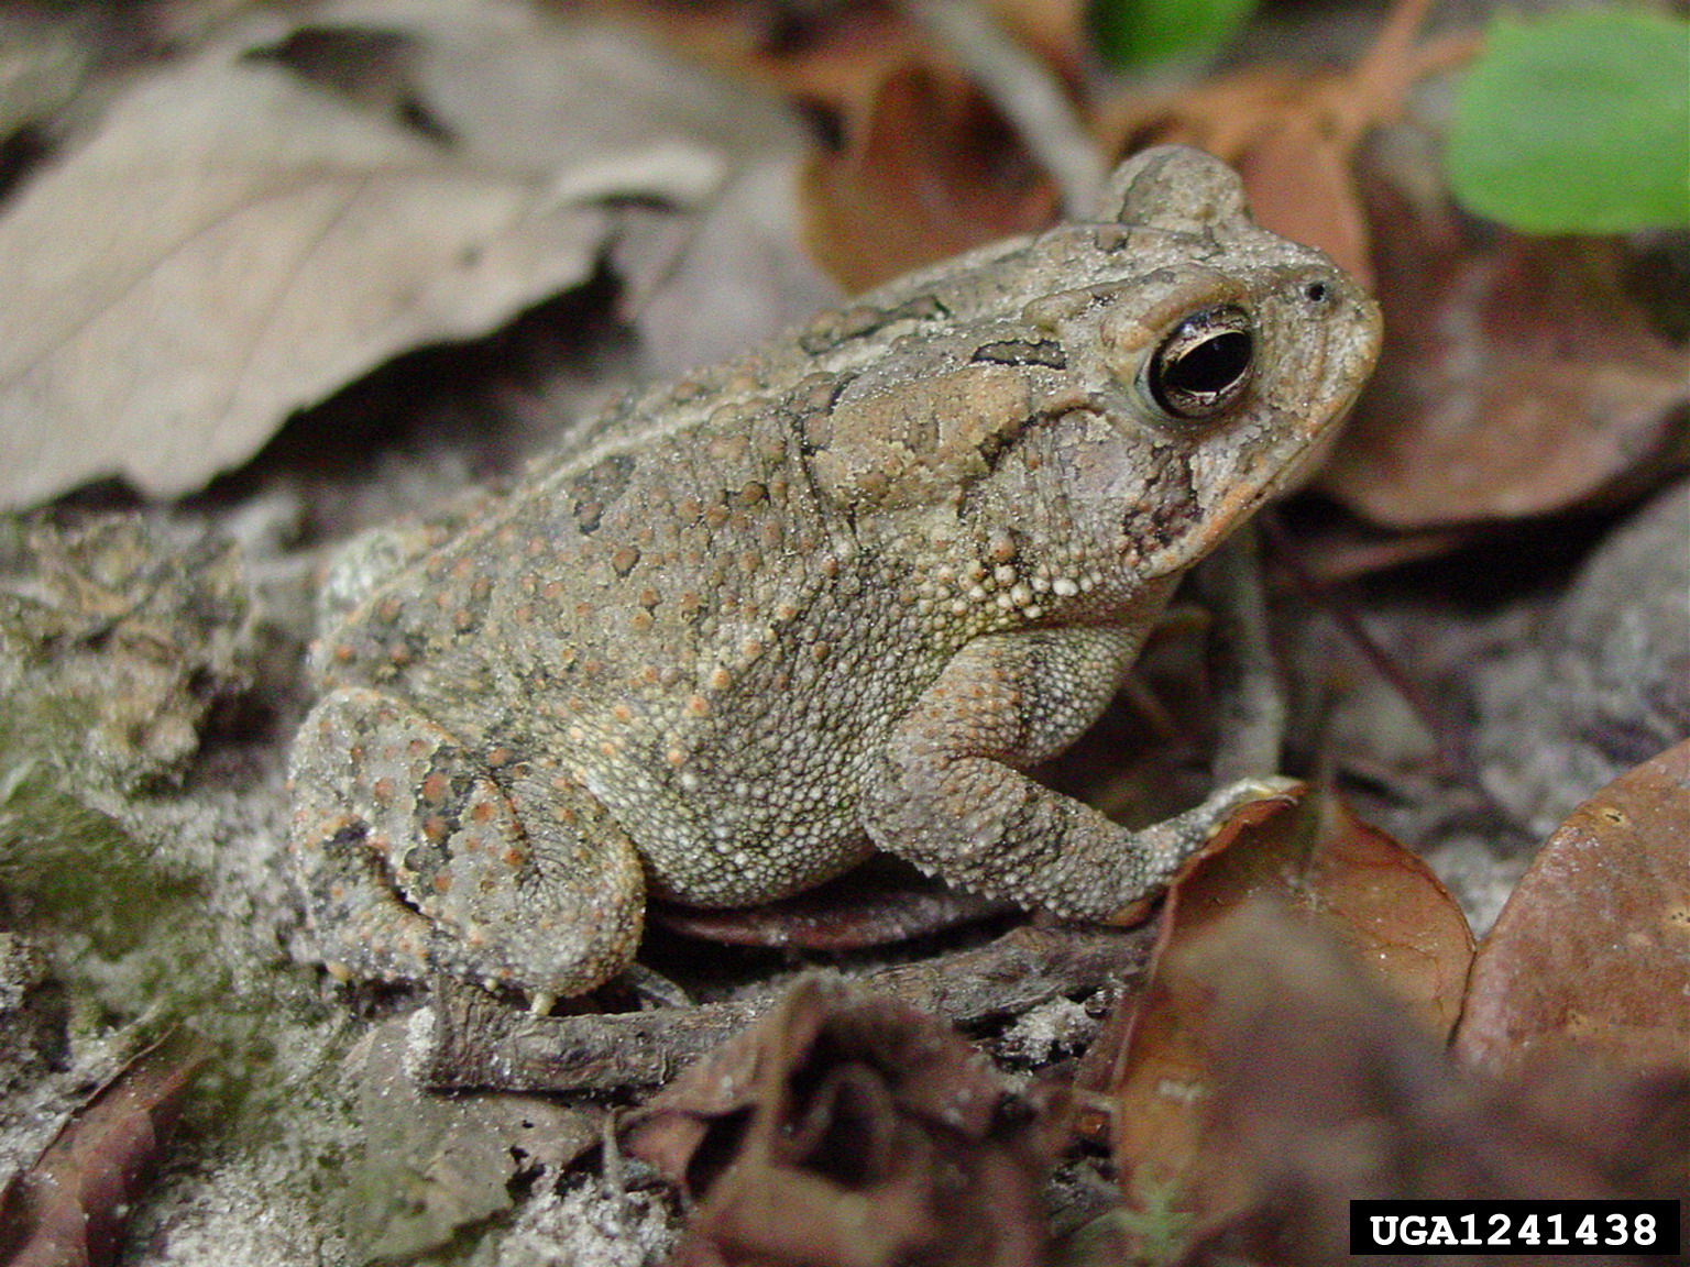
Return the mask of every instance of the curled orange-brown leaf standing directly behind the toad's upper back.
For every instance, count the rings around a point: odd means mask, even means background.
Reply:
[[[911,61],[845,120],[845,149],[803,176],[810,253],[864,291],[968,247],[1046,225],[1058,191],[967,79]]]

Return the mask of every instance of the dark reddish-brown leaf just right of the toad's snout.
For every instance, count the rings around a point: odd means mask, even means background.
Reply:
[[[1391,529],[1563,510],[1682,451],[1683,351],[1626,296],[1612,240],[1475,238],[1371,188],[1391,338],[1318,487]]]

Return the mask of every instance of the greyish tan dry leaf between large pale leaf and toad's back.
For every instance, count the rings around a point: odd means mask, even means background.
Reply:
[[[338,0],[311,24],[401,32],[407,103],[461,155],[556,174],[570,199],[615,198],[608,267],[644,372],[679,377],[838,301],[798,240],[806,130],[766,91],[627,24],[544,20],[526,0]]]

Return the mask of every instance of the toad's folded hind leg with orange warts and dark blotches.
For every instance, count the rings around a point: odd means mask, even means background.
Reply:
[[[289,772],[291,848],[331,968],[553,997],[627,966],[634,845],[585,789],[499,760],[377,691],[316,704]]]

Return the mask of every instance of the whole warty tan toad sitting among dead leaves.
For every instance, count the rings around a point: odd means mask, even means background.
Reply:
[[[326,956],[576,993],[647,889],[762,902],[875,846],[1075,917],[1154,892],[1259,784],[1132,833],[1021,770],[1377,345],[1344,274],[1168,147],[1098,223],[620,404],[323,639],[291,775]]]

